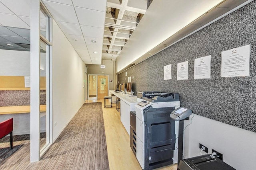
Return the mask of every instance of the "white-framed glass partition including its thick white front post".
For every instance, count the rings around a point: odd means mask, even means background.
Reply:
[[[52,144],[52,17],[40,0],[31,1],[30,162]]]

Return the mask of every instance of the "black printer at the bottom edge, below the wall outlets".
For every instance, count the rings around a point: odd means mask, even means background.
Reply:
[[[180,160],[178,170],[235,170],[212,154]]]

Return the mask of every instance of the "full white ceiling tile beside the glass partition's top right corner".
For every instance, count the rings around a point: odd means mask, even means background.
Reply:
[[[76,23],[78,24],[78,20],[76,18],[76,12],[73,6],[44,1],[46,8],[52,14],[52,17],[55,21],[62,21],[68,23]]]

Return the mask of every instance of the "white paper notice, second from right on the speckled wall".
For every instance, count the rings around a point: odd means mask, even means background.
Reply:
[[[195,59],[194,79],[211,78],[211,55]]]

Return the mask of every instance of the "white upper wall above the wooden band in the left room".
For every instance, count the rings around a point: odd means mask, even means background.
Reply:
[[[0,49],[0,76],[30,76],[30,51]]]

